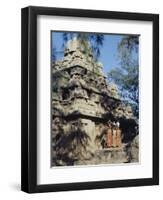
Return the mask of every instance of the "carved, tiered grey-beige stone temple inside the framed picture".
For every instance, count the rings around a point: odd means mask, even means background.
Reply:
[[[52,63],[51,166],[132,162],[126,144],[137,129],[89,43],[68,41],[63,59]]]

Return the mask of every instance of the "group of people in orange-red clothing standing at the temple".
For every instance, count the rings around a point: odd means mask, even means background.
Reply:
[[[119,122],[108,122],[105,134],[105,144],[108,148],[122,147],[122,135]]]

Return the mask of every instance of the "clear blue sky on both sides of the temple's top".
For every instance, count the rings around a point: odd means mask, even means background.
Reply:
[[[63,32],[52,32],[52,49],[56,49],[56,60],[63,57]],[[117,59],[117,46],[123,35],[105,34],[103,46],[100,48],[99,61],[103,64],[104,73],[119,67]]]

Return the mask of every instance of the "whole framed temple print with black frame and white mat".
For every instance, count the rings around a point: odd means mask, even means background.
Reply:
[[[22,190],[159,184],[159,16],[22,9]]]

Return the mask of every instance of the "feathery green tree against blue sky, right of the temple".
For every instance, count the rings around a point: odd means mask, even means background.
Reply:
[[[132,105],[137,117],[139,112],[138,47],[138,36],[124,36],[117,48],[120,67],[108,73],[108,78],[118,85],[122,99]]]

